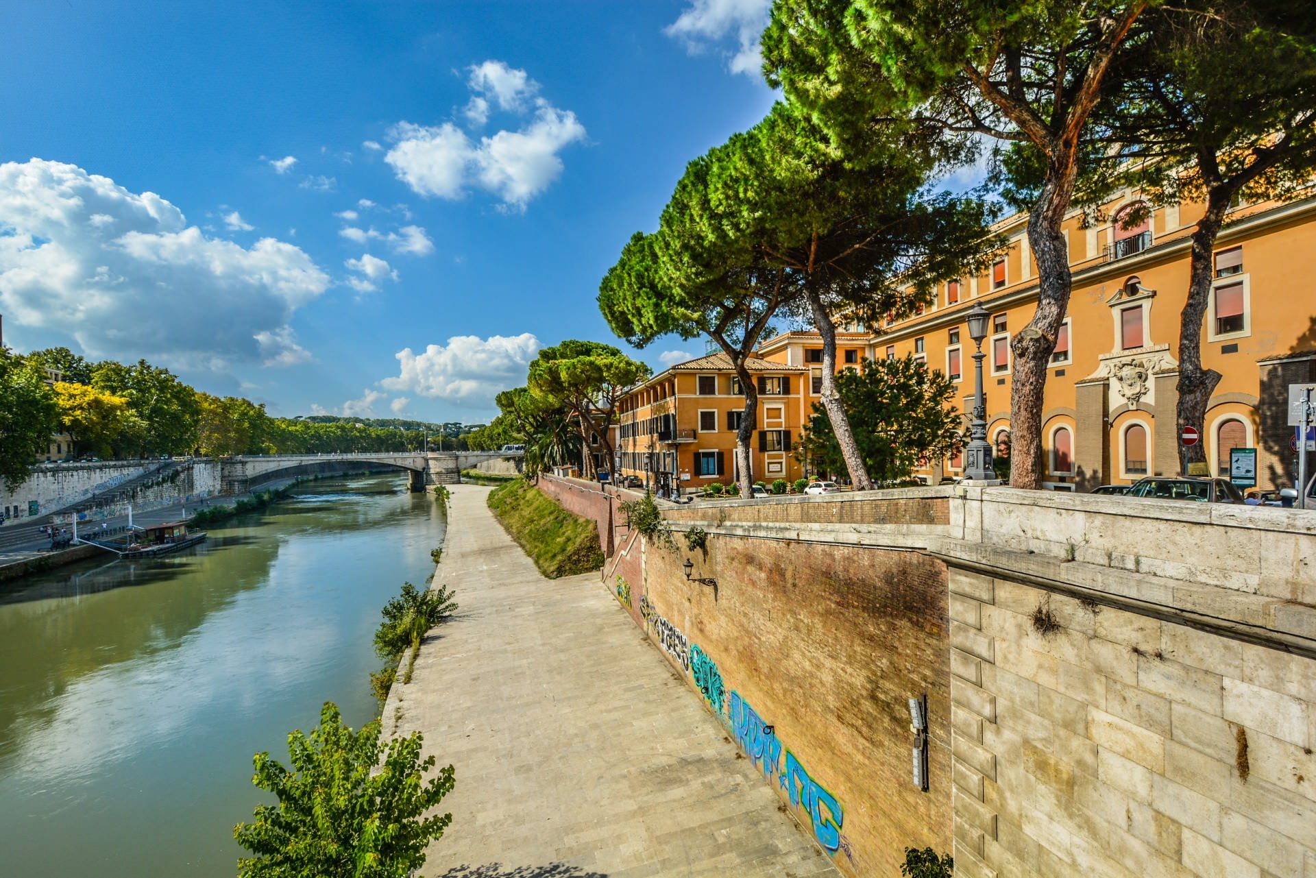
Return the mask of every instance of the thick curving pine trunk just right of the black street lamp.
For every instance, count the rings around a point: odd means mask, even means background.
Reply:
[[[1033,212],[1028,217],[1028,244],[1037,259],[1037,309],[1009,342],[1013,354],[1013,386],[1009,399],[1009,484],[1042,487],[1042,399],[1046,367],[1055,351],[1055,338],[1069,307],[1073,276],[1069,247],[1061,232],[1074,191],[1075,166],[1051,168]]]

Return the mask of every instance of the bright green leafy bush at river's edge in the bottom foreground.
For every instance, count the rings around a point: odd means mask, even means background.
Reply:
[[[453,766],[420,758],[421,735],[379,741],[379,723],[361,732],[343,725],[326,702],[320,725],[288,736],[292,770],[257,753],[258,788],[278,806],[255,808],[233,837],[253,857],[238,860],[240,878],[403,878],[425,862],[425,846],[442,837],[453,815],[430,815],[455,785]]]

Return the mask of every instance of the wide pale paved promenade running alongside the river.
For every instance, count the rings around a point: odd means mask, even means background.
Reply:
[[[461,608],[384,710],[457,767],[428,878],[838,874],[597,574],[542,578],[488,488],[453,494]]]

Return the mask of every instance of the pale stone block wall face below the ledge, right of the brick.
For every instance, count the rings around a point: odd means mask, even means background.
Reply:
[[[951,569],[955,874],[1316,875],[1316,661]]]

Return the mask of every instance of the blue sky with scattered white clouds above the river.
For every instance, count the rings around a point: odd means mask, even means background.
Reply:
[[[767,0],[11,4],[0,313],[280,415],[483,421],[686,162]],[[700,342],[642,351],[655,367]]]

